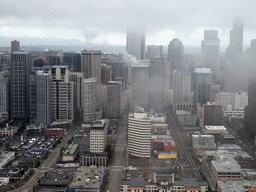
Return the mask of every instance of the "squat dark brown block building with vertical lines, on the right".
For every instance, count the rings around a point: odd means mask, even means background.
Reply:
[[[202,126],[222,125],[222,107],[221,105],[207,103],[203,105]]]

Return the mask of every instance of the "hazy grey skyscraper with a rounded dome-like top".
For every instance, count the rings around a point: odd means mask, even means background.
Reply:
[[[183,44],[179,39],[173,39],[168,46],[168,61],[170,63],[170,88],[173,85],[173,71],[184,67]]]

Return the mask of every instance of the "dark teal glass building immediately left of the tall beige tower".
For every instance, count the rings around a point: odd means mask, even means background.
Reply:
[[[81,72],[81,54],[74,52],[64,53],[63,65],[67,65],[70,72]]]

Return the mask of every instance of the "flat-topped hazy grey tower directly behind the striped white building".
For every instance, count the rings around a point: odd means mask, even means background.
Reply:
[[[137,63],[131,66],[131,110],[135,106],[148,107],[148,64]]]

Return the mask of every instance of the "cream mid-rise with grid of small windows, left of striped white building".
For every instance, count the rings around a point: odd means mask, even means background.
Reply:
[[[95,121],[90,129],[90,152],[103,153],[107,144],[107,123],[106,120]]]

